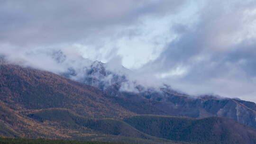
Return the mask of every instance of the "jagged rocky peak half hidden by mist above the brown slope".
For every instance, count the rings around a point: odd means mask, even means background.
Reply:
[[[124,73],[110,71],[106,63],[99,61],[93,62],[82,57],[72,59],[64,55],[62,51],[55,51],[51,55],[56,63],[65,65],[67,69],[65,72],[56,74],[91,85],[100,90],[106,90],[113,84],[121,84],[122,82],[128,81]],[[123,67],[121,69],[123,72],[128,71],[128,69]]]

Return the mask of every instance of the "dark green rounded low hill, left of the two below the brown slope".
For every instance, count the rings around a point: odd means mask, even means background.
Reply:
[[[44,109],[29,112],[27,115],[41,123],[54,122],[59,126],[90,134],[118,135],[125,137],[140,138],[145,140],[160,141],[162,143],[171,141],[146,135],[127,123],[115,119],[91,119],[78,116],[66,109]]]

